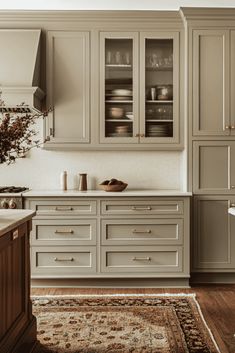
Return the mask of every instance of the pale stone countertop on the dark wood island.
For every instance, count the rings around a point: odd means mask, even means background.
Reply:
[[[29,221],[35,214],[31,210],[0,210],[0,237]]]

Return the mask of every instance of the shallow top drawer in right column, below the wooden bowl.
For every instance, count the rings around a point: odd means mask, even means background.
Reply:
[[[102,201],[103,215],[178,215],[183,214],[183,201]]]

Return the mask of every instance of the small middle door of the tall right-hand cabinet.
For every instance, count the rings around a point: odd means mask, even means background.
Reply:
[[[235,142],[193,142],[193,190],[201,194],[235,193]]]

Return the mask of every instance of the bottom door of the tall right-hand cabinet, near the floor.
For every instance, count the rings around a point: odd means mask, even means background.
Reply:
[[[235,271],[235,196],[195,196],[192,259],[194,272]]]

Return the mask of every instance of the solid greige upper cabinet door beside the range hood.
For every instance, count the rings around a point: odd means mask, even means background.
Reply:
[[[89,142],[89,32],[48,33],[49,143]]]

